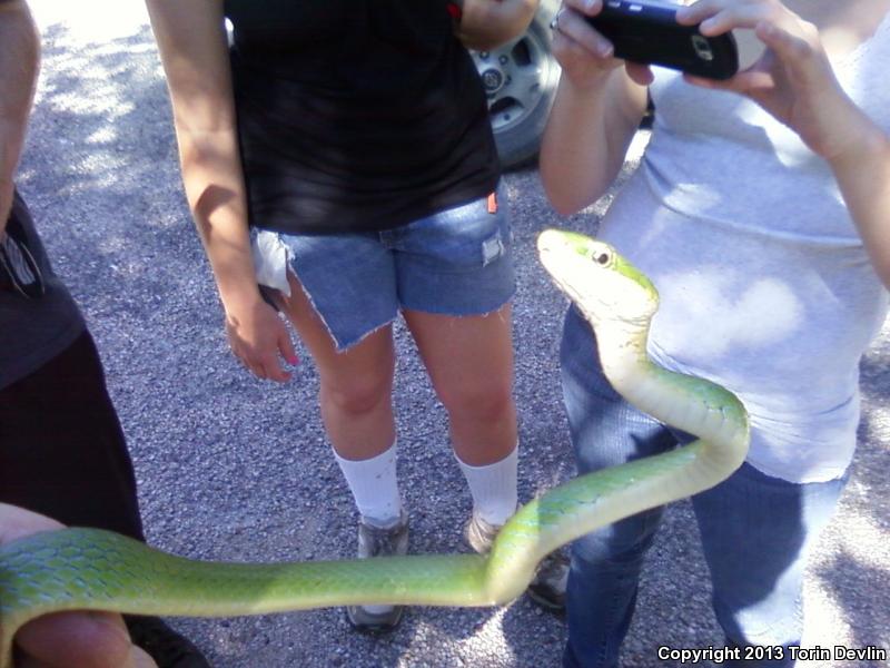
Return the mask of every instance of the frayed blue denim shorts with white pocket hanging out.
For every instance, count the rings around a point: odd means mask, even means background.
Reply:
[[[291,235],[256,229],[251,245],[260,286],[289,295],[299,278],[337,350],[393,322],[400,308],[484,315],[516,288],[503,189],[490,198],[374,233]]]

